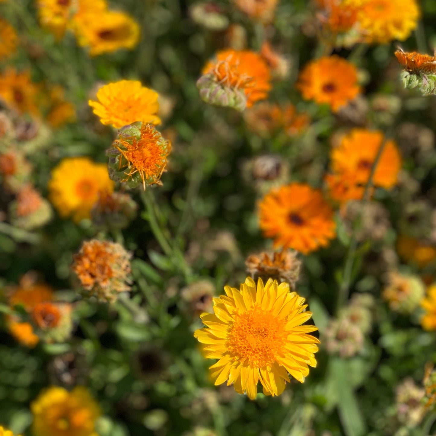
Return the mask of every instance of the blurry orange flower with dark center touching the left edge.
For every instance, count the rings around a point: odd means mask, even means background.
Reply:
[[[7,69],[0,75],[0,97],[10,109],[18,113],[39,113],[37,101],[38,87],[30,78],[30,72],[16,72],[14,69]]]

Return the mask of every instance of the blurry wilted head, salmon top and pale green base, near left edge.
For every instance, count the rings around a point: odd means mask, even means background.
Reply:
[[[53,216],[50,203],[31,185],[25,185],[9,205],[9,220],[16,227],[32,230],[47,224]]]

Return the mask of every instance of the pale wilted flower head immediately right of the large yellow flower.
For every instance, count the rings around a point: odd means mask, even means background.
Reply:
[[[350,318],[341,317],[330,321],[324,333],[324,340],[329,354],[350,358],[361,351],[364,335]]]

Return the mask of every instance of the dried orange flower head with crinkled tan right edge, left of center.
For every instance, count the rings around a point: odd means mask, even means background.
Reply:
[[[88,296],[113,302],[120,292],[130,290],[129,274],[131,255],[116,242],[83,242],[78,254],[73,256],[72,269]]]

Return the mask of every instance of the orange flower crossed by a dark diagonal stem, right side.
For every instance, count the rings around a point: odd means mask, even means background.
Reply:
[[[366,185],[383,141],[380,131],[352,129],[331,151],[331,169],[335,174],[353,175],[357,184]],[[401,164],[397,144],[386,140],[372,178],[374,186],[392,188],[398,182]]]

